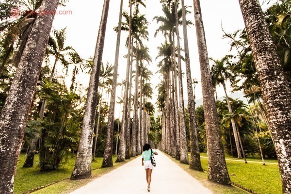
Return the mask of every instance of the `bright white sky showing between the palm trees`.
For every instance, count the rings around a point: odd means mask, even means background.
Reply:
[[[193,0],[184,0],[186,6],[191,6],[189,10],[192,12],[187,15],[187,19],[194,22],[193,14]],[[53,29],[60,30],[66,27],[66,45],[72,46],[83,59],[88,59],[94,55],[97,33],[99,29],[99,23],[101,18],[101,12],[103,7],[103,0],[69,0],[65,7],[59,7],[58,11],[71,11],[69,15],[56,15],[53,22]],[[206,33],[206,42],[208,48],[209,57],[213,59],[221,59],[229,53],[230,46],[229,40],[223,39],[222,26],[224,30],[234,32],[236,30],[244,28],[242,13],[238,0],[200,0],[202,18]],[[146,14],[146,18],[149,22],[148,32],[149,41],[144,44],[149,48],[150,56],[153,59],[153,63],[148,66],[154,76],[152,77],[152,87],[160,83],[159,74],[155,74],[158,71],[157,61],[155,58],[158,53],[157,47],[164,42],[162,34],[158,34],[154,37],[156,29],[159,24],[153,21],[154,16],[163,16],[162,5],[160,0],[145,0],[146,8],[140,7],[141,14]],[[107,28],[105,35],[105,43],[103,50],[103,63],[114,64],[115,45],[117,33],[113,31],[113,27],[118,24],[120,1],[111,0],[109,7],[109,15],[107,20]],[[124,0],[123,9],[129,11],[128,0]],[[182,29],[179,29],[180,36],[182,38]],[[198,84],[195,88],[196,99],[202,98],[200,67],[198,58],[198,49],[196,41],[195,27],[187,29],[188,32],[188,44],[191,63],[192,79],[196,79]],[[125,79],[127,60],[123,57],[127,54],[125,47],[125,39],[128,33],[121,33],[121,44],[119,54],[119,66],[118,66],[118,82]],[[181,47],[183,47],[183,40],[180,40]],[[181,53],[184,55],[184,53]],[[135,66],[135,65],[134,65]],[[61,72],[61,65],[58,65],[58,71]],[[185,64],[182,62],[182,71],[185,72]],[[78,76],[78,81],[87,87],[90,76],[88,74],[81,73]],[[66,79],[67,84],[70,84],[70,78]],[[226,84],[228,93],[231,92],[229,84]],[[121,97],[121,87],[117,87],[116,96]],[[186,78],[183,78],[183,91],[184,99],[187,99]],[[133,92],[132,92],[133,93]],[[223,88],[217,88],[218,97],[225,96]],[[105,97],[104,97],[105,98]],[[157,99],[157,90],[154,90],[152,103],[155,104]],[[115,106],[115,117],[119,116],[119,105]]]

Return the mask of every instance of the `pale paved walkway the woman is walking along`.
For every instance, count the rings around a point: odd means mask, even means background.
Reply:
[[[150,192],[147,192],[146,171],[139,156],[71,194],[212,194],[175,162],[157,152]]]

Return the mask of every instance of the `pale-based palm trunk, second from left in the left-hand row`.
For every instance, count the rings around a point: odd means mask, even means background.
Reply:
[[[103,54],[109,1],[110,0],[104,0],[103,4],[102,16],[100,20],[96,50],[91,70],[88,95],[82,124],[79,149],[71,179],[88,178],[91,176],[92,143],[96,115],[95,112],[97,106],[97,90],[99,84],[99,74]]]

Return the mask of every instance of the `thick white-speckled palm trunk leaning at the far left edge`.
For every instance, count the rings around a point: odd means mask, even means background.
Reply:
[[[57,6],[57,0],[43,0],[41,9],[54,11]],[[14,191],[19,150],[53,18],[53,15],[37,16],[0,114],[0,163],[5,166],[0,169],[0,188],[3,194],[12,194]]]

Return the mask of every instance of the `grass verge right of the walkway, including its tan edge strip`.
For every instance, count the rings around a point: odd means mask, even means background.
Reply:
[[[166,154],[167,155],[167,154]],[[168,155],[167,155],[168,156]],[[201,153],[201,156],[207,156],[205,153]],[[171,158],[170,156],[168,156]],[[226,157],[228,159],[231,157]],[[224,186],[216,184],[210,180],[207,180],[208,171],[208,158],[201,158],[201,165],[204,173],[192,170],[187,164],[181,164],[179,161],[171,158],[174,162],[198,179],[205,187],[209,188],[214,194],[246,194],[247,192],[234,187]],[[190,157],[189,157],[190,160]],[[239,160],[239,159],[238,159]],[[260,162],[259,159],[252,159],[254,162]],[[265,162],[275,162],[274,160],[268,160]],[[226,160],[227,170],[232,182],[235,182],[247,189],[250,189],[258,194],[282,194],[282,185],[280,179],[280,173],[278,165],[261,163],[244,163],[240,161],[228,161]]]

